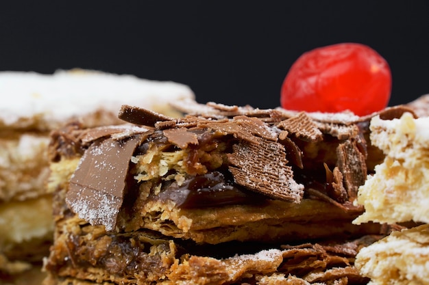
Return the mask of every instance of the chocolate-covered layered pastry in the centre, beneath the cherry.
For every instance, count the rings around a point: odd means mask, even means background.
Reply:
[[[45,284],[365,284],[354,267],[380,223],[353,224],[384,154],[373,116],[123,105],[127,125],[51,134],[54,243]]]

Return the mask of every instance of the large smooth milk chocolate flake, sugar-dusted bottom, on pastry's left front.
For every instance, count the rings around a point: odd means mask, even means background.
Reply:
[[[132,154],[144,135],[95,141],[71,177],[66,203],[81,219],[114,230]]]

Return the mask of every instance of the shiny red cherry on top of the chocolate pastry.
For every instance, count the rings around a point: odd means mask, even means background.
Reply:
[[[384,109],[391,95],[386,60],[364,44],[343,43],[301,55],[284,79],[284,109],[364,116]]]

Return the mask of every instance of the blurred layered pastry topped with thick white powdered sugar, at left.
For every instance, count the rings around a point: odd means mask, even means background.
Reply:
[[[193,99],[179,83],[92,70],[54,74],[0,72],[0,277],[41,263],[53,237],[49,133],[69,121],[82,126],[123,124],[122,104],[178,116],[166,103]]]

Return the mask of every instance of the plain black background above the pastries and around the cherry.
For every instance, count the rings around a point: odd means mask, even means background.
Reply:
[[[88,68],[271,108],[291,64],[338,42],[391,66],[390,105],[429,93],[428,1],[4,1],[0,70]]]

